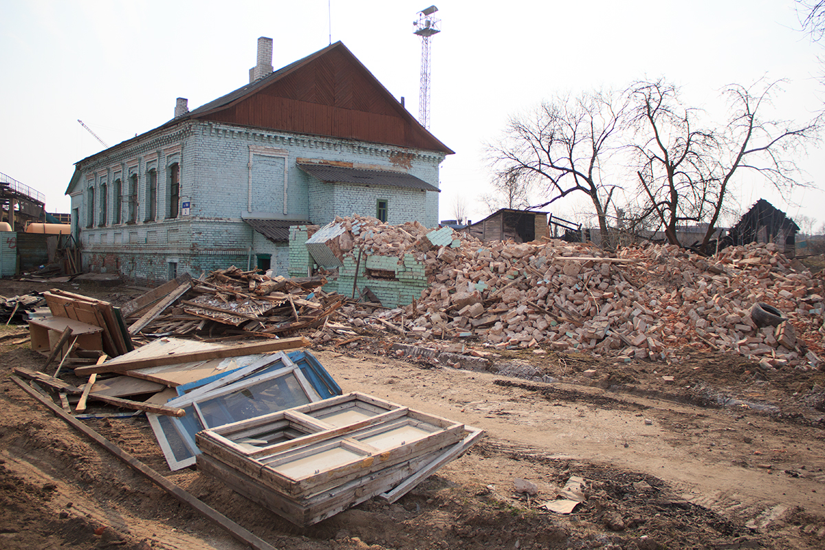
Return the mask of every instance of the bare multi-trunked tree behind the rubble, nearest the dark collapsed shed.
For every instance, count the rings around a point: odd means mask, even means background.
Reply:
[[[806,185],[796,181],[799,169],[791,157],[817,138],[822,120],[795,125],[764,118],[762,111],[778,90],[779,82],[764,80],[751,87],[729,85],[724,90],[728,123],[702,129],[700,111],[683,106],[676,87],[658,81],[630,88],[639,185],[668,242],[680,244],[678,223],[707,221],[701,244],[707,247],[719,217],[729,209],[733,176],[740,172],[761,176],[780,193]]]

